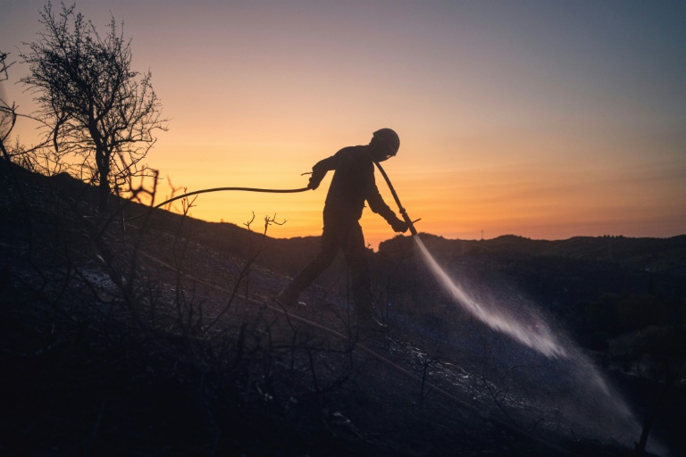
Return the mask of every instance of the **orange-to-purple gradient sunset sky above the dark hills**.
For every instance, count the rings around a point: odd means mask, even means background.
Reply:
[[[0,50],[45,2],[2,0]],[[420,231],[474,239],[686,233],[686,3],[91,0],[133,37],[170,118],[148,154],[175,186],[305,187],[322,158],[396,129],[384,163]],[[12,83],[5,96],[33,107]],[[31,143],[33,126],[15,130]],[[192,214],[320,235],[330,176],[296,195],[202,195]],[[377,177],[381,193],[395,204]],[[167,187],[163,186],[163,193]],[[373,246],[393,233],[365,211]]]

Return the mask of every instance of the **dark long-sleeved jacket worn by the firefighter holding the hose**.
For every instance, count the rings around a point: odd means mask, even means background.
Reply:
[[[324,227],[360,220],[364,201],[369,203],[372,212],[389,223],[396,218],[376,187],[374,163],[368,148],[366,145],[345,147],[312,168],[311,187],[319,186],[327,171],[334,170],[324,204]]]

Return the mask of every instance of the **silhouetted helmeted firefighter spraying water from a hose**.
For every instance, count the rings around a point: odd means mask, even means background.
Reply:
[[[408,224],[397,218],[383,201],[374,180],[374,162],[383,162],[397,154],[400,138],[392,129],[373,133],[369,145],[349,146],[312,167],[308,187],[316,189],[333,170],[333,179],[324,204],[322,250],[304,270],[281,291],[276,300],[286,306],[297,304],[297,297],[336,258],[339,250],[346,256],[358,326],[363,330],[383,328],[372,307],[372,289],[364,235],[359,220],[364,202],[387,220],[397,232],[406,232]]]

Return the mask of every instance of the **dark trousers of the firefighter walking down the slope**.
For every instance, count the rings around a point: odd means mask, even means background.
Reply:
[[[333,228],[332,228],[333,227]],[[341,224],[324,224],[322,232],[322,250],[312,262],[300,271],[289,284],[288,291],[297,296],[308,287],[315,278],[326,270],[336,258],[339,250],[346,256],[347,269],[350,275],[350,286],[353,303],[358,318],[372,317],[372,287],[367,261],[367,250],[364,247],[362,227],[356,220],[344,226]]]

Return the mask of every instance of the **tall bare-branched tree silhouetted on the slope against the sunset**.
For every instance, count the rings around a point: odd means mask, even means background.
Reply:
[[[40,12],[44,30],[37,41],[24,43],[30,51],[21,59],[29,63],[29,75],[21,82],[35,94],[54,154],[75,154],[80,167],[92,170],[105,213],[112,186],[139,172],[166,120],[151,72],[131,70],[123,23],[118,28],[112,18],[101,37],[75,4],[61,5],[58,15],[50,2]]]

